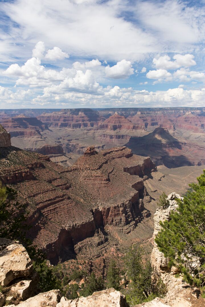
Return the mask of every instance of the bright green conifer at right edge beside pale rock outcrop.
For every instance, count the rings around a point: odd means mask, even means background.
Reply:
[[[170,266],[177,266],[184,279],[199,288],[205,285],[205,170],[197,181],[189,185],[192,190],[183,202],[177,200],[177,212],[161,223],[155,241]]]

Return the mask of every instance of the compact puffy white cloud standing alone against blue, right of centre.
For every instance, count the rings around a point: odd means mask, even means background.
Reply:
[[[132,63],[130,61],[121,60],[116,65],[105,67],[106,77],[113,79],[126,79],[134,73]]]

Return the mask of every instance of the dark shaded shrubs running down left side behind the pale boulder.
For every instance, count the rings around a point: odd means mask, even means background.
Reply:
[[[16,195],[14,189],[5,187],[0,182],[0,238],[18,240],[26,247],[33,260],[34,269],[38,273],[38,292],[61,289],[62,273],[59,273],[59,267],[48,266],[41,249],[37,249],[26,238],[26,231],[29,228],[25,223],[26,205],[16,201]]]

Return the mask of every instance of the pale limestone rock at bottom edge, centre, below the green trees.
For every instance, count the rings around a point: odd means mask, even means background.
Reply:
[[[88,297],[79,297],[75,300],[61,298],[56,307],[128,307],[126,298],[113,288],[94,292]]]

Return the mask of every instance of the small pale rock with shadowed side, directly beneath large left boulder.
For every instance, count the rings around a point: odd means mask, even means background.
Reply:
[[[34,282],[32,280],[22,280],[11,287],[11,291],[18,294],[23,301],[27,300],[34,293]]]

